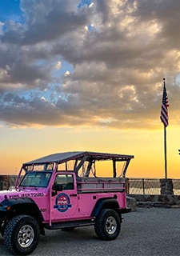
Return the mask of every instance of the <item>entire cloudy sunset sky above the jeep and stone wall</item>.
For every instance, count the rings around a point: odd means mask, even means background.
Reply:
[[[58,152],[133,154],[180,178],[179,0],[1,0],[0,174]]]

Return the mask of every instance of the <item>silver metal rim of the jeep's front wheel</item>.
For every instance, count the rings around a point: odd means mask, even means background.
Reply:
[[[25,225],[18,232],[18,244],[22,248],[27,248],[34,241],[34,230],[32,226]]]

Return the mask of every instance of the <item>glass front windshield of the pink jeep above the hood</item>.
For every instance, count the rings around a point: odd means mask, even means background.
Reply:
[[[46,171],[27,172],[19,186],[47,187],[51,174]]]

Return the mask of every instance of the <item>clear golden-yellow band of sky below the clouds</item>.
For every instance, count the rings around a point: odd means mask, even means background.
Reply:
[[[8,133],[7,133],[8,131]],[[178,129],[167,128],[167,174],[180,178]],[[164,178],[163,129],[43,128],[4,130],[2,174],[18,174],[23,162],[58,152],[89,150],[133,154],[127,177]],[[10,138],[10,139],[8,139]],[[7,154],[8,152],[8,154]]]

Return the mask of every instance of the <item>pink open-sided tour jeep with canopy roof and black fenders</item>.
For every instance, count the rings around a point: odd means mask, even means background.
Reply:
[[[26,162],[15,190],[0,191],[0,231],[12,254],[27,255],[45,229],[94,225],[103,240],[118,237],[126,207],[126,170],[133,155],[50,154]]]

